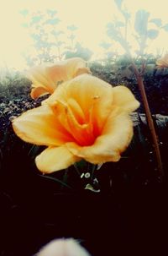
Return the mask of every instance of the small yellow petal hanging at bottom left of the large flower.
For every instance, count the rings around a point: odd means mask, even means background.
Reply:
[[[81,158],[73,155],[66,146],[49,147],[35,158],[36,166],[40,172],[56,172],[80,161]]]

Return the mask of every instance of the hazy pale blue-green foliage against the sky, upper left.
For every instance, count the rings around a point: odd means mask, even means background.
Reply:
[[[92,56],[92,52],[77,41],[75,25],[68,25],[66,30],[60,30],[61,21],[57,11],[29,13],[23,10],[21,14],[24,18],[22,25],[33,41],[33,52],[24,52],[29,66],[53,63],[65,57],[82,57],[88,60]]]

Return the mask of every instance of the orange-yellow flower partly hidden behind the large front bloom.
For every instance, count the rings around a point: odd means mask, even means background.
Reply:
[[[87,63],[80,57],[72,57],[54,64],[30,68],[27,77],[33,83],[31,97],[36,99],[42,95],[52,94],[58,82],[73,79],[79,74],[90,73],[86,65]]]

